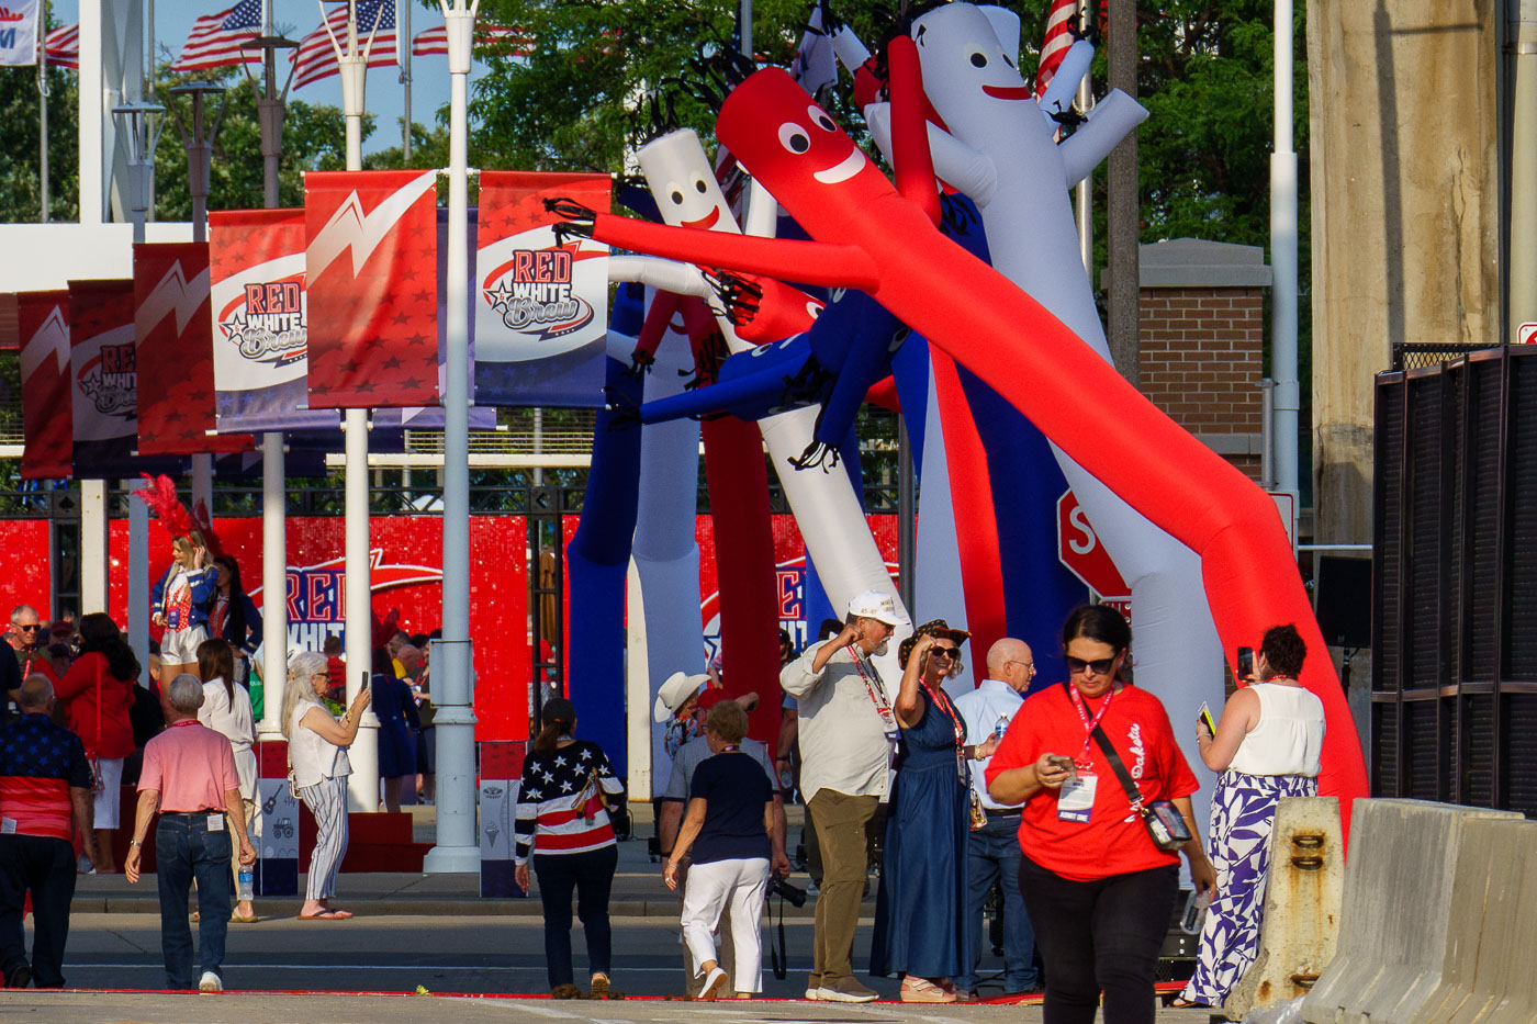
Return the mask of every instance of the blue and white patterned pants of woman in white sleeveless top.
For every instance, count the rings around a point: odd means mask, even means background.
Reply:
[[[1282,796],[1316,796],[1319,780],[1305,775],[1223,772],[1211,795],[1207,855],[1217,872],[1217,895],[1200,929],[1196,973],[1180,993],[1220,1007],[1259,955],[1265,913],[1270,833]]]

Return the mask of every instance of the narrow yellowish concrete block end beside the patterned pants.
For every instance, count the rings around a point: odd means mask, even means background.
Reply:
[[[1334,958],[1343,890],[1339,798],[1283,796],[1270,836],[1259,956],[1222,1007],[1228,1019],[1308,993]]]

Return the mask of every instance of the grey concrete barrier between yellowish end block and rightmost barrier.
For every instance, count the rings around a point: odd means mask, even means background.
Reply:
[[[1506,810],[1357,800],[1337,953],[1302,1004],[1308,1024],[1409,1024],[1442,981],[1462,830]]]

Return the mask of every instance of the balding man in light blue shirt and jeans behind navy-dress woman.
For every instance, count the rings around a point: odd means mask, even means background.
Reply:
[[[1036,675],[1034,657],[1022,640],[1005,637],[987,652],[987,677],[970,693],[962,693],[954,704],[965,718],[967,736],[982,743],[987,736],[1002,736],[1014,720],[1014,712],[1024,703],[1030,680]],[[1025,899],[1019,893],[1019,821],[1017,806],[1007,807],[987,795],[987,758],[971,763],[971,789],[982,798],[987,810],[987,826],[978,829],[967,841],[967,915],[971,927],[982,927],[982,907],[987,893],[998,881],[1004,889],[1004,993],[1019,995],[1041,992],[1041,972],[1036,967],[1036,936],[1025,915]],[[976,944],[981,958],[982,946]],[[956,999],[976,1001],[976,961],[971,969],[954,979]]]

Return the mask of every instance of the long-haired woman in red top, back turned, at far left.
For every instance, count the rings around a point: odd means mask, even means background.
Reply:
[[[112,833],[118,826],[118,796],[123,784],[123,758],[134,752],[134,726],[128,709],[134,706],[138,658],[123,640],[111,615],[91,612],[80,620],[80,658],[54,687],[65,706],[65,721],[86,744],[100,787],[95,795],[95,849],[98,873],[117,872],[112,859]]]

